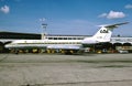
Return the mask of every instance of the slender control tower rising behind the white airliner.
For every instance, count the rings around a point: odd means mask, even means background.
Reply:
[[[42,22],[41,26],[42,26],[42,35],[41,35],[41,39],[42,40],[45,40],[46,39],[46,26],[47,26],[47,23],[45,23],[45,18],[42,18],[40,19],[40,21]]]

